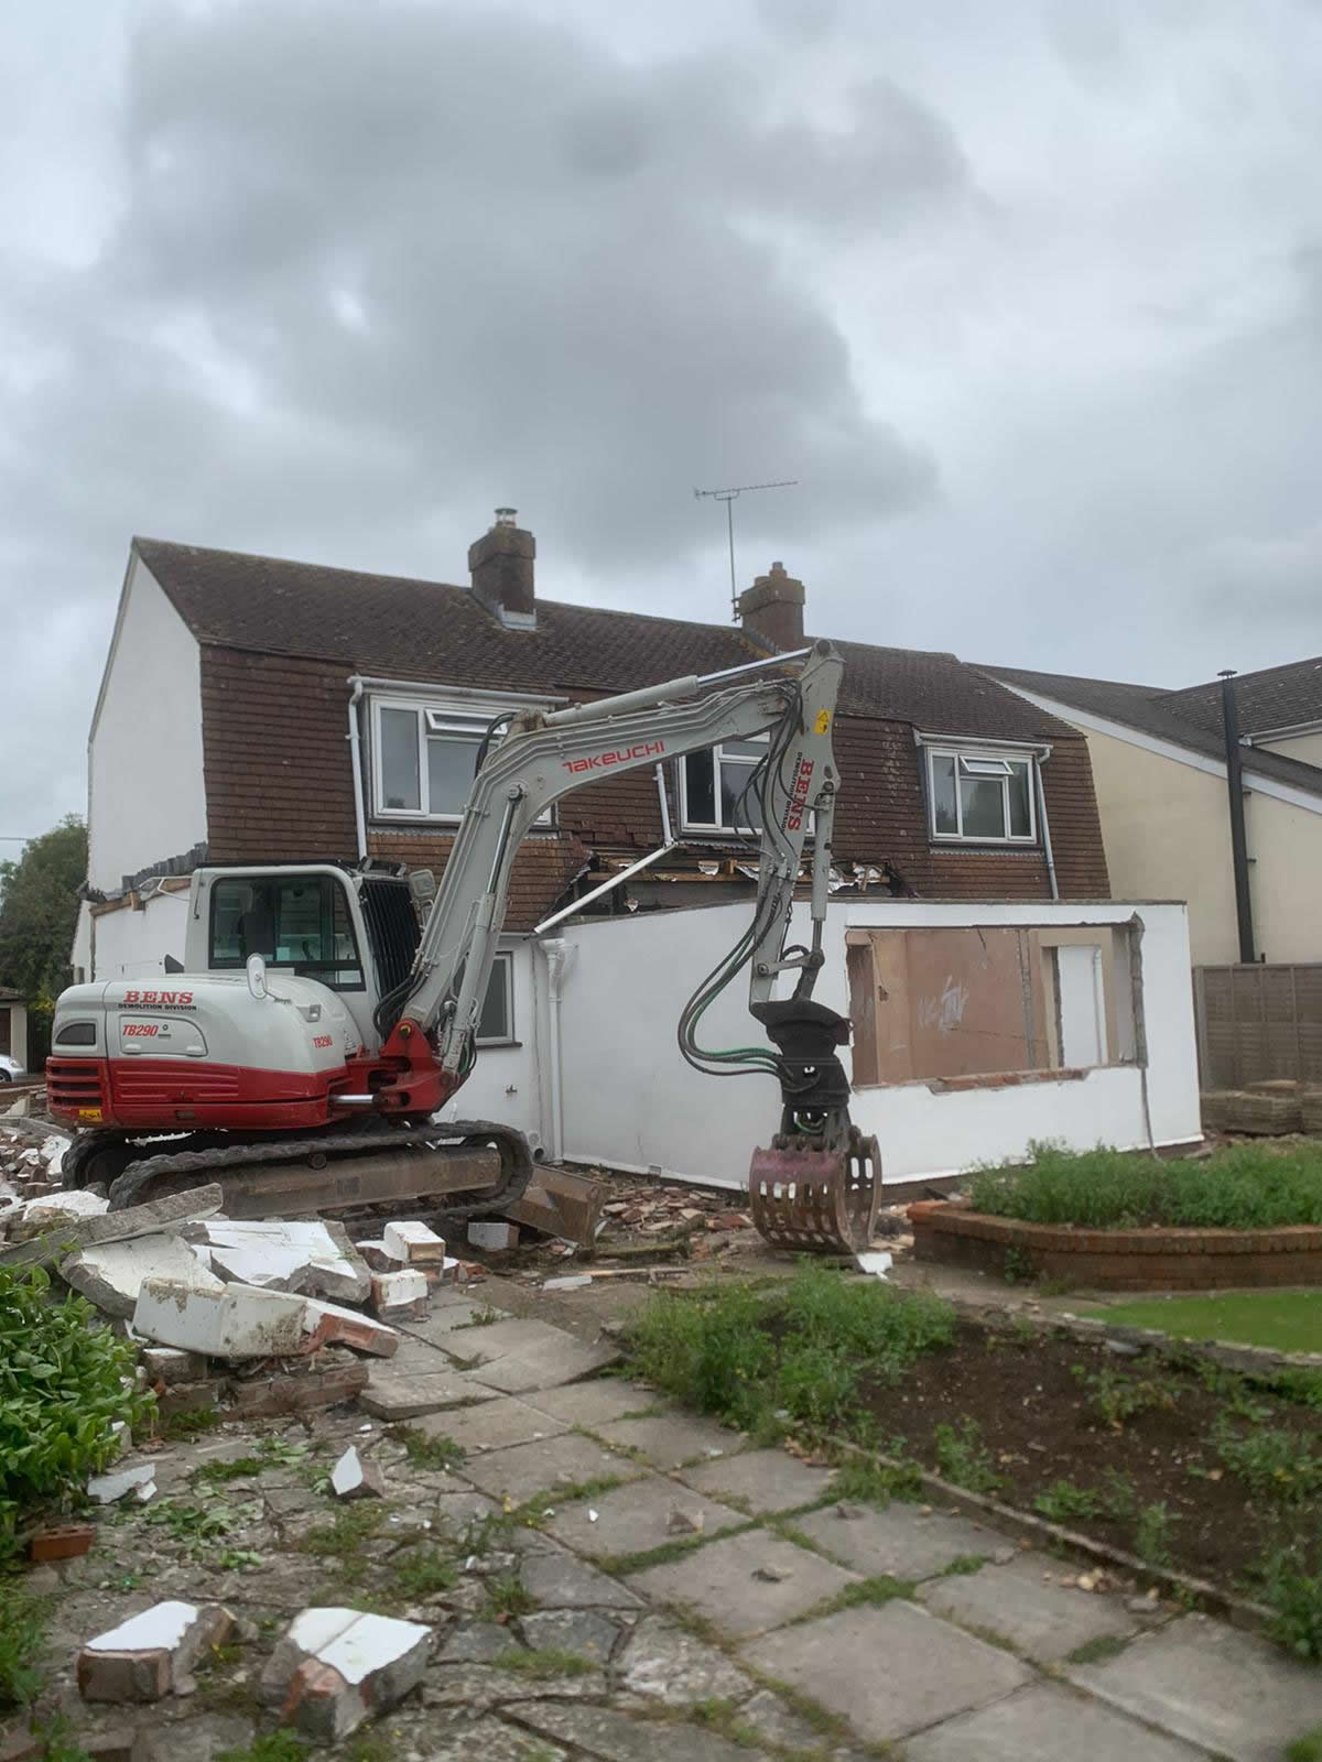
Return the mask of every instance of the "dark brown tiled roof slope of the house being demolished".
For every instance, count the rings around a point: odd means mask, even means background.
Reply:
[[[694,624],[538,597],[536,631],[504,629],[465,587],[134,539],[203,643],[344,663],[345,673],[504,691],[633,691],[765,650]],[[839,643],[841,708],[927,733],[1051,740],[1066,729],[952,654]]]

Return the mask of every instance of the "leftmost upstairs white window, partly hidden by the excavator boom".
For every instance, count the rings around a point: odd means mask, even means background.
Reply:
[[[374,818],[457,823],[499,714],[499,705],[462,700],[372,698]],[[548,821],[543,814],[539,825]]]

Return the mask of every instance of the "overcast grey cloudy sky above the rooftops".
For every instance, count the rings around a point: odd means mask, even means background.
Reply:
[[[0,26],[0,833],[134,532],[1188,684],[1322,652],[1313,0],[48,0]],[[143,691],[152,682],[143,680]],[[18,853],[0,844],[0,855]]]

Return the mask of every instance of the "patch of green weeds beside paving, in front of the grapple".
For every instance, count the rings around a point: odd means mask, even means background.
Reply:
[[[860,1387],[895,1381],[954,1337],[954,1311],[941,1299],[816,1265],[769,1292],[659,1293],[629,1332],[640,1376],[758,1438],[788,1429],[871,1438]]]

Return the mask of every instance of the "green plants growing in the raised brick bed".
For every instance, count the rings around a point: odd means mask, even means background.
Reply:
[[[1269,1151],[1236,1144],[1206,1161],[1162,1163],[1132,1151],[1066,1151],[1031,1144],[1028,1168],[984,1168],[969,1203],[1024,1223],[1091,1230],[1169,1225],[1188,1230],[1269,1230],[1322,1225],[1322,1145]]]

